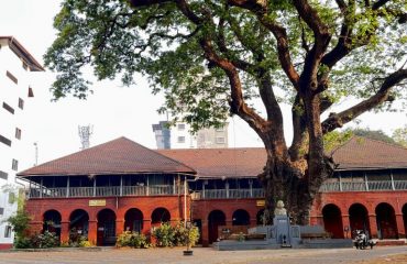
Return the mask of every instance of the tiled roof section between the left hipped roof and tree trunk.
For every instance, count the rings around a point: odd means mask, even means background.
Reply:
[[[163,155],[180,161],[197,170],[199,177],[253,177],[266,163],[266,152],[260,147],[158,150]]]

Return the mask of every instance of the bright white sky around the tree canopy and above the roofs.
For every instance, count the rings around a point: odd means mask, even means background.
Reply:
[[[43,54],[55,40],[53,18],[59,4],[59,0],[0,0],[0,35],[14,36],[43,64]],[[38,164],[79,151],[78,125],[94,127],[91,146],[127,136],[147,147],[156,147],[152,124],[165,119],[156,112],[163,97],[151,95],[145,77],[136,76],[138,84],[132,87],[123,87],[120,80],[94,82],[95,92],[86,101],[67,97],[52,102],[50,87],[54,78],[51,70],[33,75],[35,98],[26,121],[30,131],[26,140],[32,143],[26,155],[33,164],[34,142]],[[283,111],[287,142],[290,142],[289,108]],[[407,123],[407,116],[406,111],[364,113],[359,120],[359,127],[392,134]],[[229,139],[230,147],[262,146],[256,134],[239,118],[230,120]]]

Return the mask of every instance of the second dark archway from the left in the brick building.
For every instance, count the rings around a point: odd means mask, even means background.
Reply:
[[[76,209],[69,217],[69,240],[79,240],[80,237],[88,238],[89,215],[82,209]]]

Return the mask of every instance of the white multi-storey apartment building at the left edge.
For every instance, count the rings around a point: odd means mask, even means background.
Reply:
[[[3,222],[15,213],[21,186],[15,182],[19,169],[28,167],[24,116],[34,90],[32,72],[43,72],[37,61],[12,36],[0,36],[0,250],[12,246],[13,232]]]

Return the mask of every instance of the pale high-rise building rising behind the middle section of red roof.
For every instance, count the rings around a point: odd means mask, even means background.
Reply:
[[[196,134],[189,132],[187,123],[178,122],[168,128],[167,121],[153,124],[158,150],[168,148],[226,148],[228,147],[228,127],[201,129]]]

